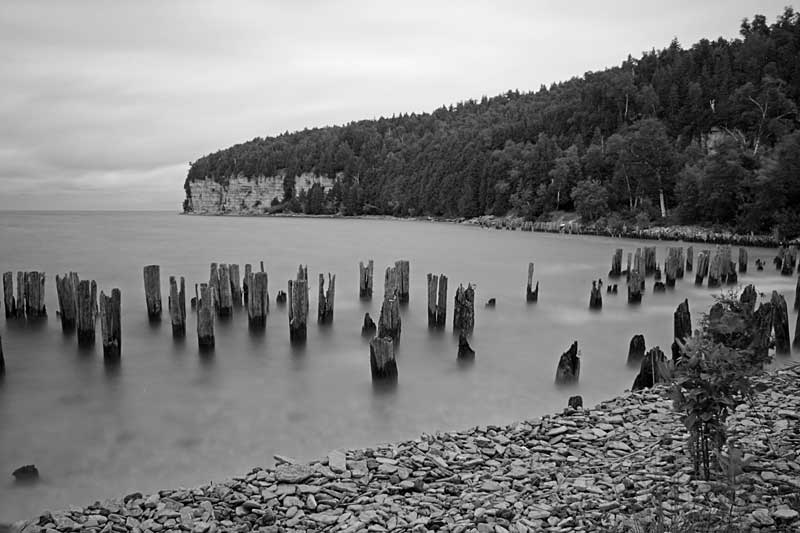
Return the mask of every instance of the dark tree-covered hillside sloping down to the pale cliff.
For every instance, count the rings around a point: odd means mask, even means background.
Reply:
[[[800,15],[432,113],[256,138],[186,180],[286,176],[310,213],[696,223],[800,234]],[[295,198],[293,176],[339,176]],[[309,201],[309,199],[313,201]]]

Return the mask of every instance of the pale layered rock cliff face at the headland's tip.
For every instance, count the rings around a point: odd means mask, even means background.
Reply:
[[[261,214],[277,198],[283,199],[284,176],[256,176],[239,174],[231,176],[224,185],[212,179],[189,182],[188,212],[198,215],[250,215]],[[319,183],[327,191],[335,180],[306,172],[295,177],[294,192],[311,188]]]

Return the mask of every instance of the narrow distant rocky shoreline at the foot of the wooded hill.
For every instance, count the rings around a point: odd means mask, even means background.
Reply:
[[[465,224],[489,229],[509,231],[529,231],[534,233],[558,233],[563,235],[587,235],[593,237],[612,237],[631,240],[682,241],[698,244],[752,246],[758,248],[778,248],[785,244],[772,235],[744,235],[732,232],[713,231],[702,226],[652,226],[648,228],[627,228],[612,231],[609,228],[597,228],[575,221],[533,222],[521,217],[483,215],[474,218],[445,218],[432,216],[397,217],[393,215],[309,215],[305,213],[179,213],[180,215],[198,217],[241,217],[241,218],[321,218],[352,220],[411,220],[416,222],[436,222]],[[794,239],[790,244],[800,244]]]

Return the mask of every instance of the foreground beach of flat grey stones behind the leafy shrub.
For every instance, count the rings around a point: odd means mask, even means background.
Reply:
[[[691,475],[665,389],[591,409],[277,466],[193,489],[46,512],[11,531],[798,531],[800,366],[729,419],[733,478]]]

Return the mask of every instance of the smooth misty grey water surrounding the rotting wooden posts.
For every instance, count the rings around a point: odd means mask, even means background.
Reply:
[[[648,243],[652,244],[652,243]],[[658,243],[663,262],[665,247]],[[648,347],[669,346],[672,312],[688,297],[694,323],[712,301],[693,278],[640,307],[604,293],[588,310],[591,279],[605,277],[613,249],[635,241],[486,230],[426,222],[294,218],[202,218],[172,213],[0,213],[0,272],[47,273],[46,322],[0,316],[7,375],[0,382],[0,522],[44,509],[86,505],[133,491],[192,486],[272,464],[280,453],[312,459],[333,448],[361,447],[532,418],[582,394],[588,405],[630,384],[628,342],[645,333]],[[695,245],[695,249],[698,246]],[[794,278],[743,276],[761,291],[780,290],[792,305]],[[358,299],[358,261],[375,260],[375,294]],[[403,309],[399,381],[372,385],[369,348],[360,336],[364,312],[380,309],[383,270],[411,263],[411,301]],[[172,339],[169,318],[147,321],[142,267],[161,265],[166,306],[169,275],[187,287],[208,278],[212,261],[257,265],[269,273],[272,303],[266,332],[251,334],[241,311],[216,327],[211,358],[198,355],[194,316],[187,338]],[[539,302],[524,302],[527,264],[540,280]],[[308,342],[289,345],[285,308],[274,304],[299,263],[312,283]],[[624,265],[623,265],[624,266]],[[77,271],[100,289],[122,290],[122,365],[104,368],[98,345],[79,350],[56,317],[55,274]],[[335,318],[313,320],[320,272],[337,275]],[[458,283],[476,289],[477,352],[456,362],[457,339],[427,329],[425,274],[450,279],[448,324]],[[190,291],[193,293],[193,290]],[[490,297],[495,309],[485,309]],[[796,313],[790,312],[792,334]],[[559,355],[573,341],[582,351],[580,384],[553,384]],[[17,486],[11,472],[35,463],[40,483]]]

